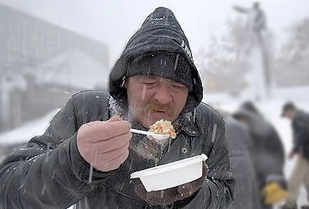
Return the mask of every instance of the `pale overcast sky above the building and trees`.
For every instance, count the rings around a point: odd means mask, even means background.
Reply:
[[[66,29],[110,45],[110,64],[115,60],[142,21],[157,6],[167,6],[187,34],[193,53],[209,44],[212,35],[224,33],[226,19],[241,16],[231,9],[251,7],[251,0],[0,0]],[[308,0],[263,0],[268,28],[279,45],[291,24],[309,17]]]

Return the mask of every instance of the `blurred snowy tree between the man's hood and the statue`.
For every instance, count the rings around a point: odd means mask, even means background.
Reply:
[[[197,65],[201,69],[206,92],[238,93],[245,85],[246,62],[239,58],[243,33],[240,19],[226,21],[226,34],[212,36],[207,50],[199,51]]]

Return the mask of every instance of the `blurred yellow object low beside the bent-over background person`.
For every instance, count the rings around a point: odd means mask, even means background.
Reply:
[[[273,205],[286,199],[288,192],[278,183],[268,183],[262,190],[264,203]]]

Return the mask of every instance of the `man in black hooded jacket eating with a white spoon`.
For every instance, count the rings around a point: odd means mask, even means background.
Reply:
[[[42,136],[0,165],[0,208],[229,208],[234,180],[224,120],[201,103],[201,79],[172,11],[159,7],[128,41],[110,92],[75,94]],[[164,119],[177,137],[132,134]],[[147,191],[130,174],[206,154],[201,178]]]

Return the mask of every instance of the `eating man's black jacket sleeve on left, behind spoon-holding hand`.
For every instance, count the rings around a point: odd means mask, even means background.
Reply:
[[[78,153],[74,98],[42,136],[0,165],[0,208],[68,208],[95,188],[106,173],[93,171]],[[9,140],[9,139],[8,139]]]

